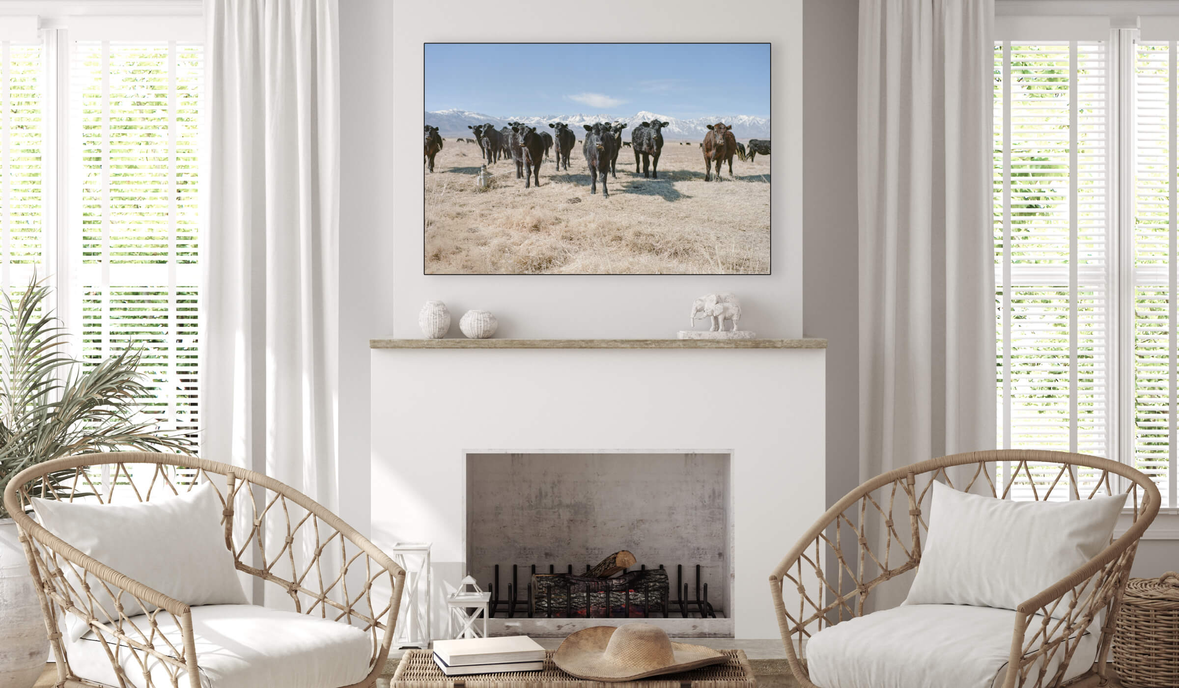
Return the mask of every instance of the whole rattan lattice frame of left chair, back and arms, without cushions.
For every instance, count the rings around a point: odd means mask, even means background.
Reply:
[[[375,684],[393,641],[406,576],[388,555],[338,516],[274,478],[192,456],[129,451],[35,465],[18,474],[4,494],[41,597],[58,686],[95,684],[81,682],[70,666],[70,643],[61,628],[72,616],[103,642],[121,684],[131,686],[126,674],[132,672],[123,666],[130,657],[137,684],[199,688],[192,616],[183,600],[133,581],[39,525],[28,516],[31,498],[146,502],[203,483],[212,483],[220,498],[225,547],[237,569],[263,582],[268,601],[277,594],[286,608],[368,633],[369,673],[354,686]],[[114,615],[98,603],[95,593],[116,600]],[[160,627],[179,628],[183,643],[178,647]],[[158,667],[164,667],[166,680],[160,680]]]

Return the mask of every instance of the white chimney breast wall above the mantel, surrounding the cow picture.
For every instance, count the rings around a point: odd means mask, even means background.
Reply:
[[[341,15],[373,5],[341,2]],[[377,2],[380,4],[380,2]],[[709,18],[716,2],[634,2],[613,7],[611,20],[582,24],[594,12],[584,2],[548,2],[520,21],[506,6],[493,11],[479,0],[394,0],[391,34],[383,40],[393,61],[369,66],[373,87],[393,92],[393,121],[399,135],[391,147],[378,147],[383,165],[393,166],[394,212],[371,218],[371,231],[391,233],[391,250],[381,256],[393,272],[393,331],[374,336],[420,337],[417,311],[427,299],[442,299],[452,313],[487,309],[500,320],[500,337],[668,337],[683,329],[691,300],[703,293],[732,291],[742,298],[742,325],[764,337],[802,335],[802,0],[731,4],[731,28],[722,31]],[[756,18],[756,21],[749,21]],[[384,27],[388,29],[388,26]],[[463,277],[422,274],[422,167],[415,163],[422,124],[422,44],[429,41],[770,41],[772,42],[773,244],[771,276],[508,276]],[[343,38],[347,45],[349,38]],[[382,51],[380,57],[386,57]],[[499,70],[529,70],[498,65]],[[627,65],[611,65],[626,79]],[[542,82],[545,66],[534,68]],[[472,73],[475,70],[473,66]],[[475,87],[475,77],[472,77]],[[555,86],[554,86],[555,87]],[[495,113],[490,113],[495,114]],[[345,117],[345,127],[348,119]],[[454,332],[456,333],[457,328]]]

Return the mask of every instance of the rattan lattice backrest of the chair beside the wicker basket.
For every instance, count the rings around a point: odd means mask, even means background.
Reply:
[[[1117,603],[1138,540],[1161,503],[1158,488],[1141,471],[1106,458],[1061,451],[955,454],[882,474],[828,509],[771,575],[784,639],[801,641],[816,628],[863,615],[874,589],[920,565],[935,481],[973,494],[1039,501],[1128,492],[1126,507],[1133,518],[1129,528],[1089,564],[1033,603],[1089,583],[1093,586],[1086,589],[1100,588],[1106,596],[1098,602]],[[809,589],[816,578],[818,588]],[[798,606],[783,606],[783,586],[797,588]]]

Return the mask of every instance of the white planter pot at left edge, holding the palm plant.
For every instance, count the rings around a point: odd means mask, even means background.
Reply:
[[[50,641],[17,524],[0,518],[0,688],[32,688]]]

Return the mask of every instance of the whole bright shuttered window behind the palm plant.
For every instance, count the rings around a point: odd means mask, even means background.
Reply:
[[[48,279],[87,366],[138,348],[144,414],[196,432],[199,18],[41,24],[65,27],[0,44],[0,280]]]

